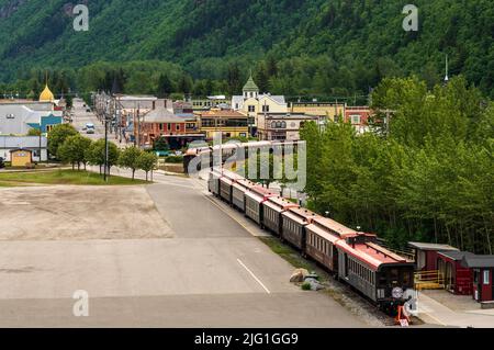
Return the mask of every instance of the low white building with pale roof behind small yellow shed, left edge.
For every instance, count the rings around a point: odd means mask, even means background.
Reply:
[[[48,159],[46,136],[0,136],[0,157],[4,161],[11,161],[11,151],[19,149],[30,150],[34,162]]]

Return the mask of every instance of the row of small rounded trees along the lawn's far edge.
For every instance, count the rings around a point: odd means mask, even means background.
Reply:
[[[99,166],[100,173],[105,165],[105,143],[104,139],[92,142],[90,138],[80,135],[71,125],[63,124],[54,127],[48,134],[48,151],[56,155],[57,159],[70,163],[72,169],[87,165]],[[114,166],[132,170],[132,179],[135,179],[136,170],[146,172],[146,181],[157,163],[155,154],[143,151],[137,147],[128,147],[120,150],[115,144],[108,144],[108,172]]]

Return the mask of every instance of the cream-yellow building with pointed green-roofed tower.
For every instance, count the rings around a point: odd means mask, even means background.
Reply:
[[[232,109],[250,116],[252,120],[256,120],[259,113],[288,113],[284,97],[259,93],[259,88],[252,77],[244,86],[243,95],[233,97]],[[257,125],[257,121],[255,124]]]

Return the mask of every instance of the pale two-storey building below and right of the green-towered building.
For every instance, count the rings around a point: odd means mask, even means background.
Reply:
[[[318,123],[319,117],[305,114],[260,113],[257,117],[259,140],[300,140],[300,131],[307,122]]]

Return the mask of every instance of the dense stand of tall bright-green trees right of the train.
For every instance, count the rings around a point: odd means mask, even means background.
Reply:
[[[374,133],[334,123],[302,131],[311,207],[396,247],[420,240],[492,253],[494,104],[461,77],[433,90],[386,79],[372,100]]]

